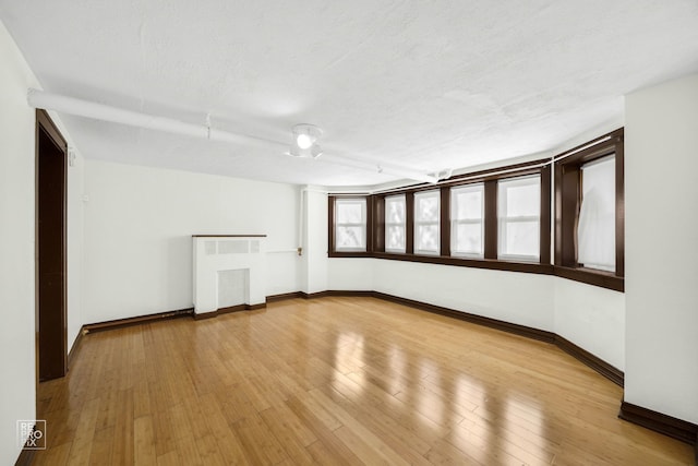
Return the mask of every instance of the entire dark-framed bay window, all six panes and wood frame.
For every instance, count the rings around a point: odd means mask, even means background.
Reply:
[[[556,275],[622,291],[623,203],[619,129],[437,187],[330,195],[328,253]]]

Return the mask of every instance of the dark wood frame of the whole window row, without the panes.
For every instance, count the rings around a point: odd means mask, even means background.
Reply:
[[[334,204],[342,194],[329,195],[328,235],[330,258],[370,256],[474,268],[555,275],[571,280],[623,292],[625,290],[625,208],[624,208],[624,129],[621,128],[552,158],[498,167],[455,176],[446,182],[414,184],[382,193],[365,194],[366,252],[338,252],[334,242]],[[580,267],[576,262],[576,222],[579,214],[579,167],[597,158],[615,154],[616,160],[616,272]],[[497,180],[525,175],[541,176],[540,261],[521,262],[497,259]],[[553,177],[554,175],[554,177]],[[484,183],[484,256],[481,259],[450,253],[450,188]],[[414,193],[441,190],[441,254],[414,254]],[[405,194],[406,252],[385,250],[385,198]],[[359,195],[352,194],[358,198]],[[554,201],[554,202],[553,202]],[[553,234],[554,232],[554,240]],[[552,258],[551,258],[552,255]]]

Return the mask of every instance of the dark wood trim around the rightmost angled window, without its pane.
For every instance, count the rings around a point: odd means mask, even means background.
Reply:
[[[603,288],[625,289],[624,131],[618,129],[561,154],[555,162],[555,265],[554,274]],[[585,148],[586,147],[586,148]],[[581,202],[580,170],[583,164],[615,154],[615,273],[585,268],[577,262],[577,224]]]

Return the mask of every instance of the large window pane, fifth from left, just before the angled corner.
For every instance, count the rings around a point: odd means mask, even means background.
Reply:
[[[539,261],[540,220],[540,176],[497,182],[497,258]]]

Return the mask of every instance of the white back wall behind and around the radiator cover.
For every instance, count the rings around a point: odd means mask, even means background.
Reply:
[[[267,235],[266,295],[300,287],[298,189],[85,162],[83,319],[192,307],[192,235]]]

